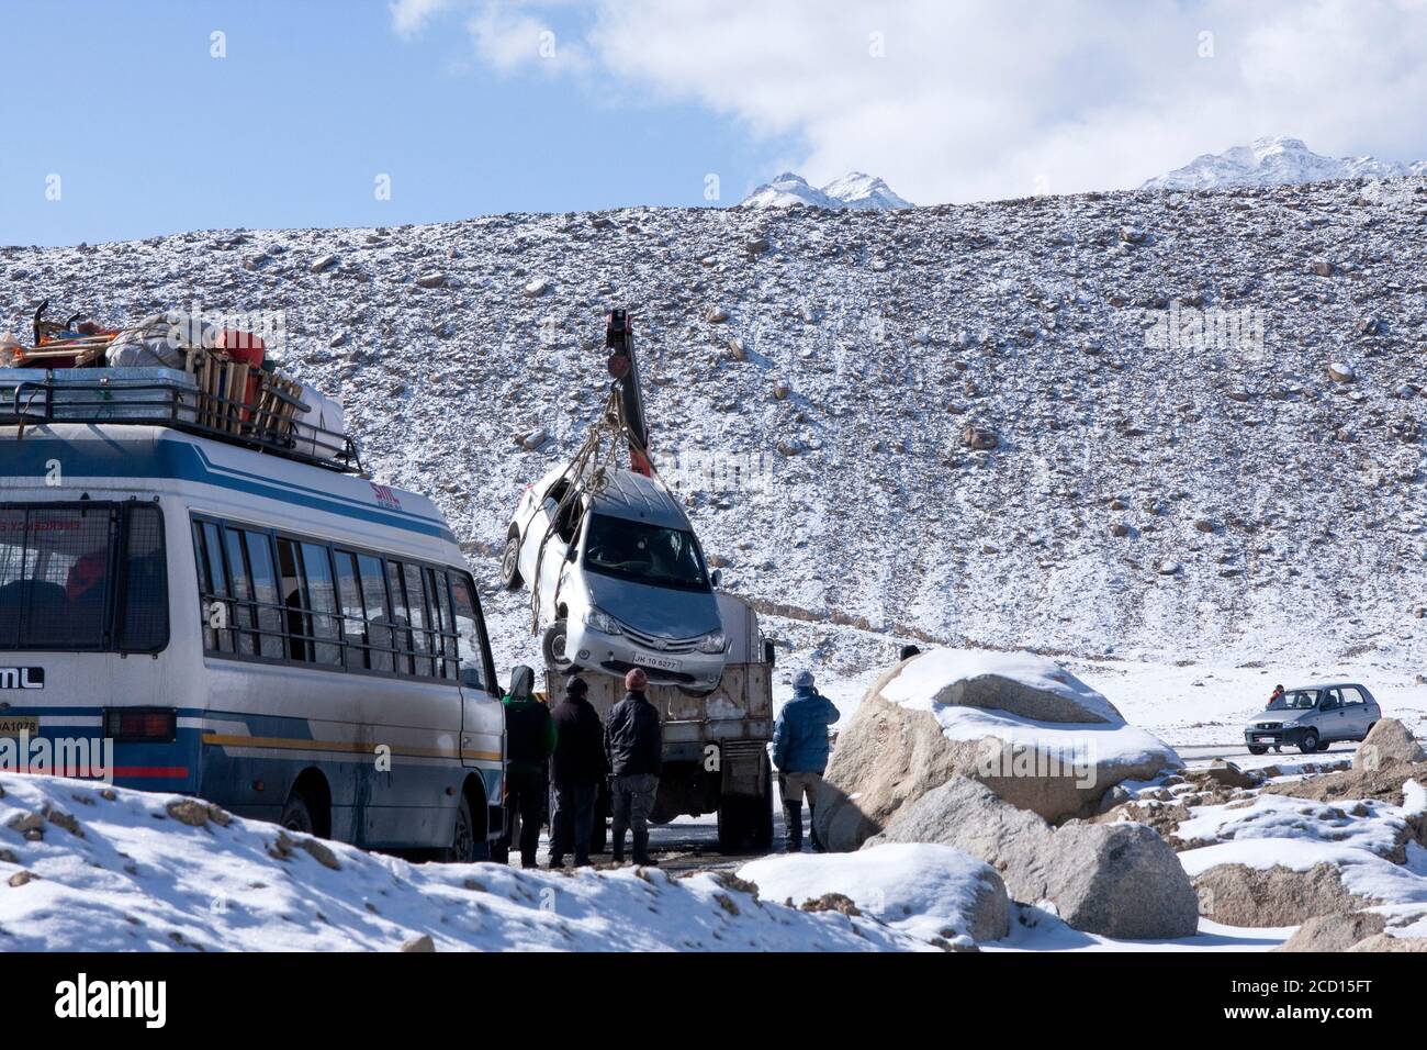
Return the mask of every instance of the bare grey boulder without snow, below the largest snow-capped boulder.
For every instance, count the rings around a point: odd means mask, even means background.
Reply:
[[[1189,937],[1199,904],[1174,851],[1143,824],[1053,829],[989,786],[953,777],[905,806],[863,850],[885,843],[952,846],[1000,871],[1020,901],[1049,900],[1076,930],[1106,937]]]

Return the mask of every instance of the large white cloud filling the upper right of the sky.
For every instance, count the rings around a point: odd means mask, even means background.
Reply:
[[[431,3],[431,0],[427,0]],[[504,71],[542,9],[472,20]],[[919,203],[1136,186],[1261,134],[1427,157],[1424,0],[601,0],[567,67],[805,143]],[[478,31],[477,26],[482,29]],[[1202,33],[1213,57],[1200,57]],[[875,57],[873,36],[885,44]],[[769,173],[772,174],[772,173]]]

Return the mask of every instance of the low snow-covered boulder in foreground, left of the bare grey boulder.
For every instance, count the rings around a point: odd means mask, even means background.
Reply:
[[[768,900],[802,907],[828,894],[863,913],[933,941],[1000,940],[1010,931],[1010,903],[1000,876],[948,846],[892,843],[852,856],[798,853],[739,869]]]

